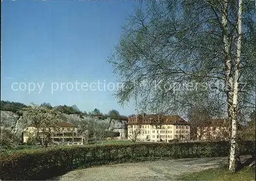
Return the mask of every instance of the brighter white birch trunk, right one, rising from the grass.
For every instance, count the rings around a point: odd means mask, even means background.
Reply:
[[[236,171],[236,140],[237,140],[237,103],[238,103],[238,79],[239,79],[239,64],[241,55],[241,33],[242,33],[242,0],[239,0],[238,9],[238,42],[237,42],[237,58],[235,60],[236,69],[234,72],[234,87],[233,87],[233,104],[232,104],[232,124],[230,138],[230,155],[229,155],[229,171]]]

